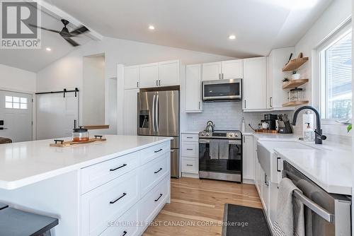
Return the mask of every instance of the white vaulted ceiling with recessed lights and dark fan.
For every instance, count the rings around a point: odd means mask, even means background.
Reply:
[[[294,46],[333,0],[45,1],[104,36],[243,58]],[[50,16],[42,16],[42,26],[62,28]],[[1,49],[0,64],[39,71],[74,49],[55,33],[42,33],[41,50]]]

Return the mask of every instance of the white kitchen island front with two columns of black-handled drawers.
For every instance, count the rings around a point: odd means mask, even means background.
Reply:
[[[169,150],[166,141],[82,169],[81,235],[142,235],[170,201]]]

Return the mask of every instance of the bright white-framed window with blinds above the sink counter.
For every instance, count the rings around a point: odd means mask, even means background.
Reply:
[[[352,33],[341,30],[319,49],[321,117],[352,117]]]

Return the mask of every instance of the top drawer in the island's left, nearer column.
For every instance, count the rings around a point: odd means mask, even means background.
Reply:
[[[120,177],[139,166],[138,153],[122,155],[81,170],[81,194]]]

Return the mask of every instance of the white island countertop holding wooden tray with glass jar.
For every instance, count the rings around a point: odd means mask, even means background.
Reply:
[[[156,136],[104,137],[107,141],[67,148],[50,147],[53,139],[1,144],[0,188],[16,189],[171,140]]]

